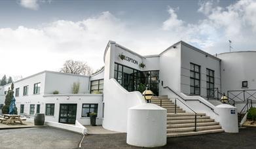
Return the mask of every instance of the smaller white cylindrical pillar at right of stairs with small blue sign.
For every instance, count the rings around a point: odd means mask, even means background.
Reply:
[[[227,133],[238,133],[237,108],[228,104],[221,104],[215,107],[219,114],[217,121]]]

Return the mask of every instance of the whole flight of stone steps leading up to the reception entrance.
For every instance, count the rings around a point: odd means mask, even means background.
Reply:
[[[214,122],[210,116],[206,116],[204,113],[196,115],[196,131],[194,131],[194,113],[186,112],[177,106],[175,114],[175,105],[167,96],[153,97],[151,103],[160,106],[160,99],[162,99],[162,108],[167,109],[167,137],[203,135],[224,131],[218,122]]]

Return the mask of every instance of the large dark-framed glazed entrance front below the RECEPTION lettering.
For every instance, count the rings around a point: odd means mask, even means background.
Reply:
[[[159,71],[138,71],[115,63],[114,78],[128,91],[142,91],[146,86],[158,95]]]

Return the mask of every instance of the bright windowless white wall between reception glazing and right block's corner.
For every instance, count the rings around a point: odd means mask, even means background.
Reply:
[[[168,95],[168,91],[166,92],[163,89],[164,86],[169,86],[169,88],[179,92],[181,84],[181,44],[177,44],[176,48],[170,47],[162,52],[159,63],[159,95]]]

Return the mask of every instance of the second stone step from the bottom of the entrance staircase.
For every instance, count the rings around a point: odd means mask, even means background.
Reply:
[[[196,127],[196,131],[205,131],[205,130],[212,130],[212,129],[221,129],[221,126],[210,125],[210,126]],[[167,129],[167,133],[190,132],[190,131],[194,131],[194,127],[181,127],[181,128]]]

